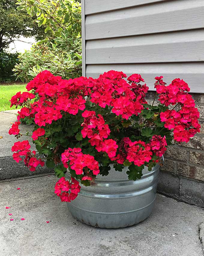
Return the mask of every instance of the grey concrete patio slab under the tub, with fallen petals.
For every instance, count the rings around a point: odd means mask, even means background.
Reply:
[[[142,223],[99,229],[71,216],[54,194],[56,180],[38,174],[0,182],[1,256],[204,255],[203,208],[158,194],[153,213]]]

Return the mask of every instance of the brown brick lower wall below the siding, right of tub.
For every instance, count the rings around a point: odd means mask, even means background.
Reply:
[[[149,102],[152,102],[154,95],[155,92],[148,93],[147,98]],[[165,184],[162,184],[161,186],[159,185],[159,190],[160,192],[164,192],[164,194],[169,194],[182,201],[187,201],[191,204],[204,207],[204,183],[202,183],[204,182],[204,94],[193,93],[191,95],[195,100],[196,108],[198,108],[200,112],[199,123],[201,125],[201,131],[191,138],[188,143],[175,143],[167,148],[164,155],[164,166],[161,167],[161,177],[165,179]],[[167,174],[166,176],[165,173]],[[176,178],[178,178],[178,187]],[[201,188],[202,191],[194,191],[195,193],[190,191],[189,195],[183,196],[185,191],[183,191],[183,188],[181,187],[181,180],[184,181],[183,184],[189,184],[187,185],[189,186],[189,189],[192,184],[194,184],[193,186],[196,188],[195,184],[197,184],[199,190]],[[168,188],[168,185],[171,182],[172,184]],[[173,189],[173,186],[175,186],[174,192],[170,191]],[[196,197],[197,199],[199,198],[199,203],[196,203]]]

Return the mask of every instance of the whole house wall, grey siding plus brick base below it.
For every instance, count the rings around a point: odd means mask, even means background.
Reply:
[[[82,51],[84,76],[140,73],[152,91],[160,75],[189,84],[201,133],[168,148],[158,190],[204,207],[204,1],[83,0]]]

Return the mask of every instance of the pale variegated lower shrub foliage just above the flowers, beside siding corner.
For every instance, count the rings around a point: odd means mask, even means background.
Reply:
[[[67,34],[65,36],[66,40],[60,37],[52,40],[55,43],[45,39],[33,45],[30,51],[20,54],[19,63],[13,69],[17,79],[30,81],[43,70],[49,70],[62,78],[81,76],[81,42],[76,39],[73,42],[75,51],[70,50],[70,40]]]

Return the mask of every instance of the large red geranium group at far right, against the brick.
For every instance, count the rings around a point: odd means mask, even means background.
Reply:
[[[199,112],[195,108],[195,102],[190,94],[187,83],[183,80],[174,79],[169,86],[162,80],[163,76],[157,77],[155,88],[159,93],[158,100],[161,104],[178,106],[179,110],[166,110],[161,112],[160,118],[165,122],[164,127],[173,129],[174,139],[178,142],[188,142],[197,132],[200,131],[198,123]],[[187,92],[185,92],[187,91]]]

